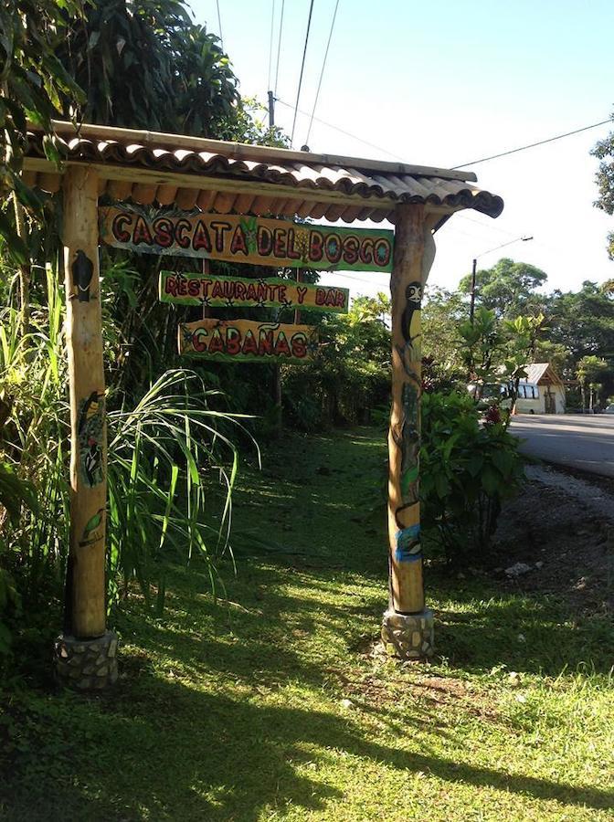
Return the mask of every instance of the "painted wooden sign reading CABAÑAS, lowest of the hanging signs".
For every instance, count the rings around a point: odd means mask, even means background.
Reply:
[[[302,363],[317,350],[317,331],[309,325],[207,318],[179,326],[179,353],[227,363]]]

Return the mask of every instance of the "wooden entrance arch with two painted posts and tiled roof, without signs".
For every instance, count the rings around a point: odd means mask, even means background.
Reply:
[[[60,169],[29,135],[26,183],[64,192],[64,268],[71,415],[69,629],[100,638],[105,624],[106,425],[99,293],[98,199],[175,205],[203,214],[325,219],[395,228],[392,294],[392,412],[388,435],[388,616],[416,617],[425,603],[419,543],[418,450],[420,300],[435,254],[434,234],[452,214],[475,209],[496,217],[503,200],[478,189],[471,172],[259,145],[55,122]],[[374,274],[374,276],[377,276]],[[381,276],[381,275],[380,275]],[[394,632],[393,632],[394,633]],[[398,632],[397,632],[398,634]],[[400,635],[399,635],[400,636]],[[428,653],[421,638],[405,656]],[[413,651],[409,651],[412,648]]]

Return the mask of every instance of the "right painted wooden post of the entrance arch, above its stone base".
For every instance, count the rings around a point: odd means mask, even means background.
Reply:
[[[423,205],[397,205],[392,296],[392,411],[388,433],[390,606],[399,614],[424,609],[418,458],[422,389],[420,300],[425,250]]]

